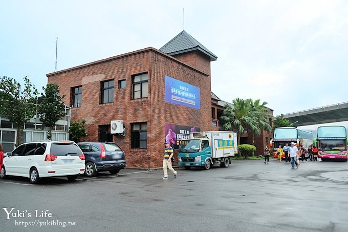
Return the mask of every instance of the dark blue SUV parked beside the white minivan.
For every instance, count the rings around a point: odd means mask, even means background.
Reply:
[[[84,175],[94,177],[98,172],[117,174],[125,168],[124,152],[114,142],[79,142],[85,157]]]

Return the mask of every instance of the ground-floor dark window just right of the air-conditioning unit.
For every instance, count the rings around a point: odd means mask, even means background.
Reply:
[[[131,143],[134,149],[147,148],[147,122],[132,124]]]

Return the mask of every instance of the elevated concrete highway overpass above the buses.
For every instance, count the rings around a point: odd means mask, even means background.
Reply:
[[[348,121],[348,101],[283,115],[296,126]]]

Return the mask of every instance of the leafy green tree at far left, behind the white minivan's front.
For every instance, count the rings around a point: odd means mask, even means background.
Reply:
[[[15,79],[3,76],[0,80],[0,115],[17,124],[17,145],[23,142],[22,131],[24,123],[36,114],[38,92],[24,77],[24,88]]]

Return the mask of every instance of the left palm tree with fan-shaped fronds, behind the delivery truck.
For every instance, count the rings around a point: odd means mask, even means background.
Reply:
[[[257,122],[255,111],[251,110],[250,103],[247,100],[236,98],[232,101],[233,106],[225,104],[223,116],[223,126],[226,130],[237,129],[237,144],[240,144],[241,136],[244,131],[250,129],[252,131],[260,130]],[[240,153],[238,153],[240,156]]]

